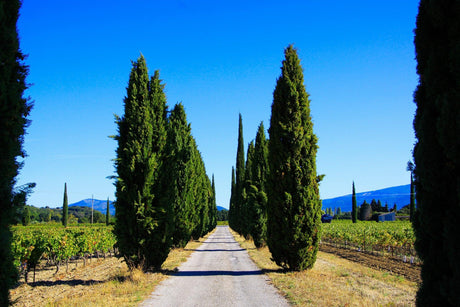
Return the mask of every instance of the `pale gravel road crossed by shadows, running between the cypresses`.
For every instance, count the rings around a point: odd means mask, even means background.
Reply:
[[[217,230],[140,306],[289,306],[235,241]]]

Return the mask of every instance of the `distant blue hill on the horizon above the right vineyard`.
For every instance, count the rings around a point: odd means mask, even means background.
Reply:
[[[387,203],[390,209],[393,208],[394,204],[396,204],[399,210],[410,203],[410,184],[376,191],[356,193],[356,204],[358,206],[360,206],[364,200],[370,204],[372,199],[375,199],[376,201],[380,200],[382,202],[382,206],[385,206],[385,203]],[[323,199],[323,210],[338,207],[340,207],[342,212],[351,211],[351,194]]]

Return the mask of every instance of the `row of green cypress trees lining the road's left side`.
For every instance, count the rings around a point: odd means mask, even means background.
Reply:
[[[184,107],[168,112],[159,72],[133,62],[124,116],[116,116],[116,225],[130,268],[159,270],[171,246],[185,246],[217,224],[213,184]],[[168,113],[170,115],[168,116]]]

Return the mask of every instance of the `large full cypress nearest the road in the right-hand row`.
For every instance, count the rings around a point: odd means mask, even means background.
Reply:
[[[282,267],[313,267],[321,237],[317,138],[297,52],[284,51],[273,92],[268,161],[268,247]]]

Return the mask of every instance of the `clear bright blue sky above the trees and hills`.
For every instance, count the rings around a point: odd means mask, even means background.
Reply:
[[[244,141],[268,129],[283,50],[298,49],[323,199],[407,184],[415,142],[413,29],[418,1],[24,0],[18,21],[35,101],[18,184],[34,206],[114,199],[113,114],[131,60],[160,70],[182,102],[218,205],[228,207],[238,114]]]

